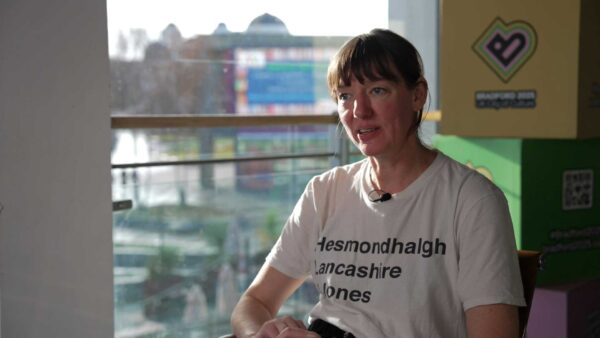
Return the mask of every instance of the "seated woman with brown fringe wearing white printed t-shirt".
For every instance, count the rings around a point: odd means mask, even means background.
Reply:
[[[357,36],[328,83],[366,158],[308,183],[232,314],[237,337],[517,336],[525,303],[506,200],[420,142],[416,49],[389,30]],[[308,276],[320,292],[310,331],[276,317]]]

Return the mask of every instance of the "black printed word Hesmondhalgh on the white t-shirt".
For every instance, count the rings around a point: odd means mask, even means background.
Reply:
[[[323,237],[317,242],[317,250],[336,252],[355,252],[373,255],[421,255],[428,258],[433,255],[445,255],[446,243],[436,238],[434,241],[419,238],[417,241],[403,242],[397,238],[388,237],[379,242],[356,240],[328,240]]]

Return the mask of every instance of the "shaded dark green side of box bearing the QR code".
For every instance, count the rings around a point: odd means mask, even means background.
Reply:
[[[523,245],[544,252],[539,282],[600,277],[600,139],[525,140],[522,167]]]

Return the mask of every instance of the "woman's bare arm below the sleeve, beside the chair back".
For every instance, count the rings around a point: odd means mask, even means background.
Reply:
[[[507,304],[480,305],[466,312],[469,338],[514,338],[519,334],[517,307]]]

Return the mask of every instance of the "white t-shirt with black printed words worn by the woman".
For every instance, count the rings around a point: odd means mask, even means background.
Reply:
[[[466,337],[464,311],[525,305],[503,193],[438,153],[392,199],[374,203],[369,163],[333,168],[307,185],[267,257],[312,276],[310,313],[356,337]]]

